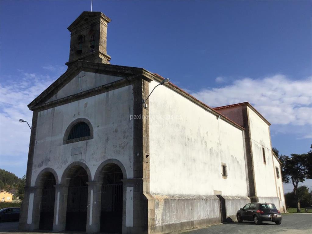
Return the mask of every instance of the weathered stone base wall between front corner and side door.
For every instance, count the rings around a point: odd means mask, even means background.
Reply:
[[[160,195],[148,197],[149,233],[168,233],[221,222],[219,199],[214,195]],[[154,211],[152,211],[154,210]]]

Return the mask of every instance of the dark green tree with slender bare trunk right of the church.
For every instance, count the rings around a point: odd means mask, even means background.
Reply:
[[[280,155],[279,159],[283,163],[282,180],[284,183],[292,183],[294,186],[295,201],[297,203],[297,212],[300,212],[300,192],[298,191],[298,184],[311,178],[311,164],[307,161],[311,160],[311,151],[307,154],[290,154],[290,158],[286,155]],[[287,160],[287,162],[286,162]]]

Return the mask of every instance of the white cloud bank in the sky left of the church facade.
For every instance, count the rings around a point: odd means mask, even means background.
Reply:
[[[15,80],[0,85],[0,155],[1,166],[22,165],[25,168],[28,156],[32,111],[27,105],[45,90],[56,78],[34,73],[24,73]],[[21,175],[20,175],[21,176]]]

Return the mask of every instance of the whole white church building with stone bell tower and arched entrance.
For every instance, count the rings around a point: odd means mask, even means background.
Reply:
[[[248,202],[285,212],[271,124],[248,102],[212,108],[111,65],[109,22],[83,12],[68,27],[68,69],[28,105],[19,229],[167,233],[235,221]]]

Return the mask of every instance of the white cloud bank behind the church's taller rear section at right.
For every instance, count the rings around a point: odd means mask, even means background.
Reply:
[[[243,78],[231,85],[193,93],[207,105],[249,101],[271,124],[312,124],[311,78],[291,80],[284,75]]]

